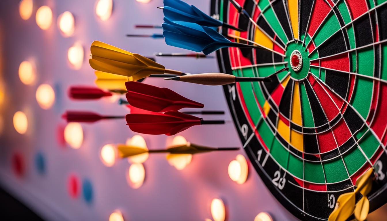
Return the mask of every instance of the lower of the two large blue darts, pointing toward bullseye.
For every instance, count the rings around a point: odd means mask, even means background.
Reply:
[[[282,57],[285,56],[277,51],[261,46],[258,43],[248,45],[230,41],[211,27],[200,26],[199,24],[192,22],[170,21],[166,17],[164,17],[163,34],[167,45],[196,52],[203,51],[205,55],[220,48],[239,47],[259,48],[269,50]]]

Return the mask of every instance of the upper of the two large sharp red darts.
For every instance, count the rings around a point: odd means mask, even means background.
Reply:
[[[129,81],[126,98],[130,105],[154,112],[177,111],[182,108],[203,108],[202,103],[192,101],[168,88]]]

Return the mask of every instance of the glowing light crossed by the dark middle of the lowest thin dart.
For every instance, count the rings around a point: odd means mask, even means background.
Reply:
[[[187,140],[183,136],[176,136],[172,140],[172,146],[187,144]],[[192,161],[192,154],[167,154],[166,159],[171,166],[178,170],[183,170]]]

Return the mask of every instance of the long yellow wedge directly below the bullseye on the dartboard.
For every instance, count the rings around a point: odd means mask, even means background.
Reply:
[[[293,103],[291,109],[291,120],[293,123],[296,123],[302,126],[301,120],[301,103],[300,103],[300,91],[298,87],[298,81],[294,84],[293,89]],[[304,149],[304,140],[301,133],[291,130],[290,132],[290,144],[293,145],[299,151],[303,151]]]

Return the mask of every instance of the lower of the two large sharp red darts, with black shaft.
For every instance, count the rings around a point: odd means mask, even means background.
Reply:
[[[142,134],[175,135],[189,127],[202,124],[223,124],[224,120],[203,120],[202,118],[180,113],[166,111],[165,113],[126,115],[126,122],[130,130]]]

